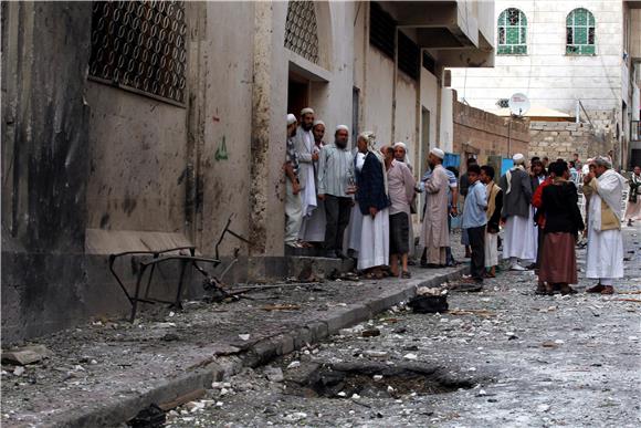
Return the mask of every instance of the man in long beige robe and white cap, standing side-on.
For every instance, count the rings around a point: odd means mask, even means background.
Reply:
[[[443,158],[445,153],[440,148],[430,150],[429,164],[432,175],[424,181],[425,216],[421,230],[421,244],[424,247],[424,260],[421,267],[442,268],[445,265],[445,249],[450,246],[448,231],[448,189],[449,180]]]

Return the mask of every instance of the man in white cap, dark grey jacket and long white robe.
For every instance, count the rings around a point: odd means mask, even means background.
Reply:
[[[534,262],[537,249],[537,230],[532,207],[533,189],[529,175],[525,170],[525,157],[518,153],[512,160],[514,167],[498,182],[498,187],[504,190],[501,211],[505,223],[503,259],[509,259],[511,270],[525,271],[527,269],[518,260]]]

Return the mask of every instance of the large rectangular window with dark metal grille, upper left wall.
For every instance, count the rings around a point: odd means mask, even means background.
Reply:
[[[90,75],[182,105],[186,33],[182,1],[94,1]]]

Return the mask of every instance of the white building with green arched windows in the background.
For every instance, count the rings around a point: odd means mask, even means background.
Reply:
[[[452,87],[460,100],[495,113],[514,93],[527,95],[533,111],[546,112],[532,117],[530,155],[578,152],[585,159],[613,149],[624,166],[638,109],[629,91],[626,3],[498,0],[495,66],[453,70]]]

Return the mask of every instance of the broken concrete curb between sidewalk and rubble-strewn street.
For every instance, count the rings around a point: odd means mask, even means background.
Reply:
[[[411,299],[416,295],[419,286],[440,285],[444,281],[459,278],[466,270],[467,267],[463,265],[427,280],[411,280],[379,296],[334,310],[324,316],[311,320],[304,326],[290,333],[256,342],[238,355],[218,357],[216,362],[203,359],[202,366],[191,373],[170,376],[147,390],[115,392],[113,398],[102,403],[99,407],[67,411],[64,415],[53,417],[45,426],[65,428],[119,426],[153,403],[168,403],[199,388],[210,389],[211,383],[214,380],[222,380],[234,375],[243,367],[259,367],[275,357],[286,355],[307,344],[317,343],[337,333],[340,328],[369,320],[374,315]]]

